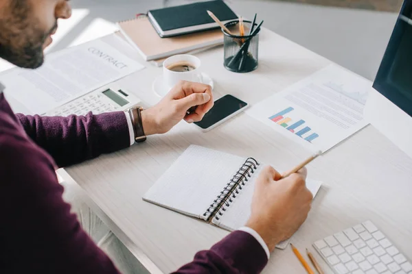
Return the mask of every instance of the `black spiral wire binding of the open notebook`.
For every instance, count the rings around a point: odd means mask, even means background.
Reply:
[[[211,203],[210,207],[206,210],[203,216],[207,216],[207,221],[215,218],[220,219],[223,212],[227,210],[233,199],[236,199],[236,195],[239,194],[239,190],[249,182],[249,178],[258,169],[259,162],[253,158],[248,158],[238,172],[233,175],[230,182],[225,186],[225,188],[220,192],[220,195]]]

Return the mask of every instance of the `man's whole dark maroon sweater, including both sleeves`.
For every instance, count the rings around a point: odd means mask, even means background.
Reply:
[[[55,169],[129,145],[123,112],[14,115],[0,90],[0,273],[118,273],[70,213]],[[259,273],[266,262],[260,243],[238,231],[176,273]]]

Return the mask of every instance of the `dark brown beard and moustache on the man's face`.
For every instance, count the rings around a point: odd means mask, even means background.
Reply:
[[[16,3],[16,2],[15,2]],[[0,18],[0,58],[25,69],[37,69],[44,62],[43,44],[56,25],[45,34],[30,14],[27,3],[10,6],[10,15]]]

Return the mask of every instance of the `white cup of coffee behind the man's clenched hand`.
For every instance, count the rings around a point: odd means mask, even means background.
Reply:
[[[171,66],[178,64],[190,64],[194,67],[194,69],[192,71],[184,72],[176,72],[168,69]],[[180,54],[166,59],[165,62],[163,62],[163,80],[165,88],[167,88],[167,91],[169,91],[181,80],[203,83],[203,76],[200,68],[201,60],[193,55]]]

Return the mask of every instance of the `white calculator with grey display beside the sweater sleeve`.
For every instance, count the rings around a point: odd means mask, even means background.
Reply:
[[[101,114],[127,110],[140,103],[141,100],[131,92],[116,84],[109,84],[78,97],[65,105],[45,113],[45,116],[86,115],[89,112]]]

